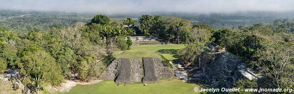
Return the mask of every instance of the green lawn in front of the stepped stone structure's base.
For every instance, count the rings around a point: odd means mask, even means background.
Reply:
[[[113,80],[106,80],[91,85],[77,85],[64,94],[199,94],[194,92],[194,87],[198,85],[179,79],[162,79],[160,83],[149,83],[148,86],[142,83],[116,86]]]

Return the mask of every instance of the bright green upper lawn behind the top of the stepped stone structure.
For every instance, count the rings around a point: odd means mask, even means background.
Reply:
[[[167,60],[177,62],[180,57],[177,55],[179,49],[184,48],[184,44],[166,44],[166,45],[140,45],[134,46],[131,50],[146,50],[149,52],[158,52]]]

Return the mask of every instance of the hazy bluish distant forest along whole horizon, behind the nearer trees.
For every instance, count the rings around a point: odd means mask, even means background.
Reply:
[[[228,14],[188,14],[188,13],[146,13],[152,16],[179,17],[187,19],[191,24],[209,24],[214,28],[233,28],[250,26],[256,23],[268,23],[276,19],[294,19],[292,12],[237,12]],[[0,24],[17,29],[29,31],[31,29],[49,29],[53,26],[72,26],[76,22],[90,22],[95,14],[91,13],[62,13],[62,12],[31,12],[31,11],[0,11]],[[139,14],[109,15],[112,19],[123,21],[126,18],[141,18]],[[134,19],[135,26],[139,20]]]

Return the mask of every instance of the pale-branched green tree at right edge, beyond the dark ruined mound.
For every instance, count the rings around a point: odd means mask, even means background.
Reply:
[[[276,88],[293,88],[294,71],[294,46],[269,45],[257,50],[256,56],[260,57],[257,65],[268,77],[272,86]]]

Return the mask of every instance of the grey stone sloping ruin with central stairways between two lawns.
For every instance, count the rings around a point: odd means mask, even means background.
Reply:
[[[174,73],[158,57],[116,58],[100,79],[116,83],[157,82],[173,78]]]

